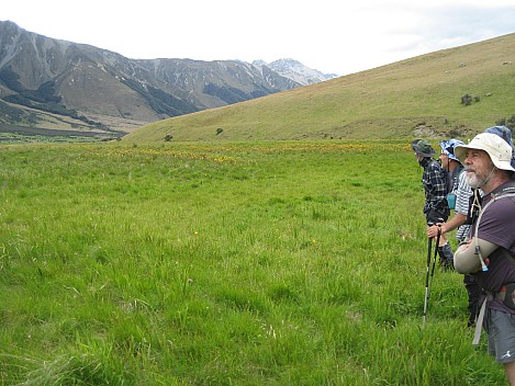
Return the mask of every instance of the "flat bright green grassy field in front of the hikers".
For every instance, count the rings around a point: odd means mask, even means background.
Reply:
[[[408,144],[0,147],[0,383],[503,384]]]

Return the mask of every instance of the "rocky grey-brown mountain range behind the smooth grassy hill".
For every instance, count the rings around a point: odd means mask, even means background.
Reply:
[[[293,75],[237,60],[128,59],[0,22],[4,124],[131,132],[302,86],[302,77]]]

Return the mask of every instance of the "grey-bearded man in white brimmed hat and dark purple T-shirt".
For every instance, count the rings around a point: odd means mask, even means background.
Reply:
[[[492,133],[478,134],[455,154],[466,167],[467,182],[474,189],[473,207],[479,214],[468,240],[455,253],[459,273],[473,274],[485,293],[478,317],[474,344],[481,327],[488,333],[489,353],[504,365],[515,385],[515,169],[512,147]],[[478,190],[481,189],[481,200]],[[484,315],[484,322],[483,322]]]

